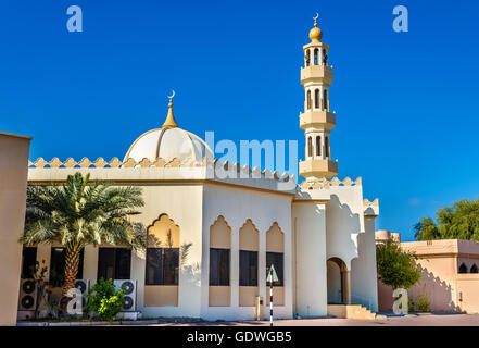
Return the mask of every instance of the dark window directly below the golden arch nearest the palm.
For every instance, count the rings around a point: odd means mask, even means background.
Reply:
[[[179,248],[148,248],[146,285],[178,285]]]

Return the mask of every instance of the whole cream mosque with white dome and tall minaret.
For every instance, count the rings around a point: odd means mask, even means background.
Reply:
[[[332,67],[322,38],[315,18],[301,67],[299,126],[306,148],[300,185],[294,175],[215,159],[203,139],[178,126],[173,96],[164,124],[140,135],[123,160],[29,162],[30,185],[63,183],[80,172],[142,188],[146,204],[134,219],[147,227],[146,252],[87,246],[78,277],[90,286],[100,276],[131,279],[133,308],[143,316],[251,320],[269,315],[266,272],[274,264],[276,318],[341,316],[349,306],[374,316],[379,206],[363,198],[361,177],[337,177]],[[53,272],[62,246],[34,249],[24,256],[46,260]]]

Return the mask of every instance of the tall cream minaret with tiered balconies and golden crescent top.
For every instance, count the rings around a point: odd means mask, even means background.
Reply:
[[[305,160],[300,161],[300,175],[307,182],[338,175],[338,162],[331,160],[330,135],[336,126],[336,113],[330,112],[329,87],[332,67],[328,66],[329,46],[320,42],[323,32],[317,27],[317,15],[310,32],[311,42],[303,46],[304,112],[300,114],[300,128],[306,137]]]

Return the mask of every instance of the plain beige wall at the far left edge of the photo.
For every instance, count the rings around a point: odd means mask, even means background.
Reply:
[[[15,325],[30,138],[0,133],[0,325]]]

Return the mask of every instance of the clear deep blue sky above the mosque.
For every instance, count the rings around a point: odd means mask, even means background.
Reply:
[[[83,33],[66,9],[83,9]],[[392,29],[408,9],[409,32]],[[123,158],[160,126],[216,139],[299,140],[312,17],[335,66],[339,177],[379,197],[377,228],[413,224],[479,192],[479,2],[23,0],[0,5],[0,132],[30,158]]]

